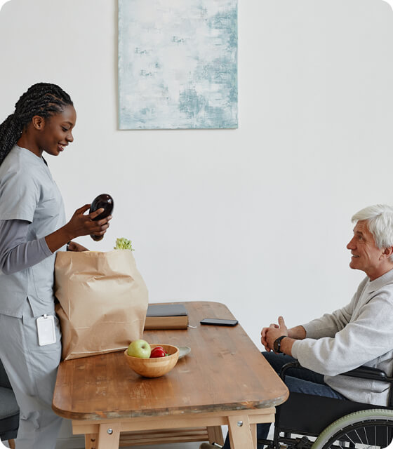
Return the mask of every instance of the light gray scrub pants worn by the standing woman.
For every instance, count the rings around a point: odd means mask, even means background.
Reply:
[[[51,408],[61,356],[56,316],[55,324],[56,343],[39,346],[27,300],[22,318],[0,314],[0,358],[20,408],[17,449],[55,449],[62,424]]]

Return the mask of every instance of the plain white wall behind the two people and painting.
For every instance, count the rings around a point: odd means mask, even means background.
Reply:
[[[119,131],[116,0],[12,0],[0,13],[0,119],[60,84],[74,144],[49,164],[67,215],[114,197],[101,243],[132,239],[151,301],[225,302],[258,344],[331,311],[363,274],[350,217],[393,203],[392,9],[380,0],[239,0],[239,129]]]

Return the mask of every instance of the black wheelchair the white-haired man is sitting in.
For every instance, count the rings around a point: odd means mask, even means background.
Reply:
[[[283,381],[291,368],[305,369],[298,361],[286,363],[280,372]],[[342,375],[388,382],[389,406],[291,393],[277,407],[273,440],[258,443],[267,449],[386,448],[393,439],[393,377],[366,366]]]

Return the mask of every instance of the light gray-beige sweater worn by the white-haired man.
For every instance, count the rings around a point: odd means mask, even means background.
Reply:
[[[302,325],[292,355],[302,366],[325,375],[325,382],[352,401],[387,406],[389,384],[341,376],[361,365],[393,370],[393,270],[368,277],[347,306]]]

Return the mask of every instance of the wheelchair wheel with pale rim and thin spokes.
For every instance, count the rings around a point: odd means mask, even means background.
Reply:
[[[386,448],[393,439],[393,410],[361,410],[326,427],[312,449]]]

